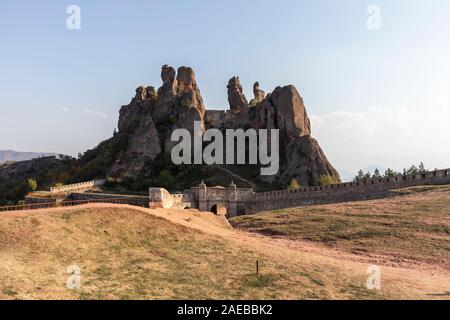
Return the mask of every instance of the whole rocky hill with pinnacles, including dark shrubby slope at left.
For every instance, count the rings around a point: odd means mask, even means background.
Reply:
[[[286,187],[293,178],[302,187],[318,185],[322,175],[340,181],[318,142],[311,137],[306,108],[294,86],[277,87],[266,96],[255,83],[253,100],[257,103],[249,107],[239,78],[233,77],[228,83],[232,112],[225,112],[206,110],[191,68],[180,67],[176,72],[165,65],[161,79],[162,85],[157,91],[152,86],[139,86],[131,102],[120,109],[118,132],[79,159],[43,158],[0,166],[3,198],[7,201],[23,198],[29,177],[35,178],[40,186],[51,186],[106,176],[136,191],[149,186],[168,189],[172,186],[182,190],[202,179],[215,185],[228,185],[234,180],[239,187],[255,186],[266,190]],[[170,160],[174,144],[170,141],[171,134],[178,128],[192,131],[194,121],[199,121],[203,128],[222,131],[227,128],[279,129],[278,174],[259,176],[260,167],[257,166],[258,174],[254,174],[256,171],[251,165],[175,166]]]

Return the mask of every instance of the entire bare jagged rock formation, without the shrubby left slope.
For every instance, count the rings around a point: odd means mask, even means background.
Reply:
[[[130,104],[121,108],[119,132],[114,139],[121,141],[123,147],[112,155],[109,176],[158,175],[159,172],[151,172],[149,168],[155,159],[170,154],[175,144],[170,141],[173,130],[184,128],[193,133],[194,121],[199,121],[203,129],[279,129],[280,171],[275,176],[255,178],[252,183],[287,186],[295,178],[306,187],[317,185],[322,175],[340,181],[339,174],[311,137],[306,108],[294,86],[277,87],[266,96],[256,82],[250,108],[239,77],[233,77],[227,86],[233,112],[224,112],[206,110],[192,68],[180,67],[176,72],[165,65],[161,79],[162,86],[157,92],[152,86],[140,86]],[[186,186],[191,183],[186,181]]]

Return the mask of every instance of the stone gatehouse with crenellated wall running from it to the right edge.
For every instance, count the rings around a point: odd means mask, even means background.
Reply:
[[[202,183],[177,195],[170,195],[165,189],[151,188],[150,199],[156,199],[156,202],[151,203],[150,207],[196,208],[216,213],[219,207],[223,207],[226,208],[228,216],[233,217],[283,208],[377,199],[393,195],[392,190],[395,189],[439,184],[450,184],[450,169],[388,179],[259,193],[250,188],[236,188],[233,183],[228,188],[206,187]],[[169,198],[168,201],[161,200]]]

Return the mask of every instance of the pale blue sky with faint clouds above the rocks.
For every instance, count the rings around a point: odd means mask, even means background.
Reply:
[[[0,149],[92,148],[170,64],[194,68],[209,109],[234,75],[248,98],[294,84],[338,170],[450,167],[449,16],[448,0],[2,1]]]

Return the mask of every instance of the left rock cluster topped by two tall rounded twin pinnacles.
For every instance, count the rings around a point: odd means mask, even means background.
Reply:
[[[120,152],[109,176],[138,177],[162,152],[170,152],[173,130],[194,132],[194,121],[203,123],[205,106],[192,68],[164,65],[162,86],[139,86],[129,105],[120,110],[118,128],[126,148]]]

